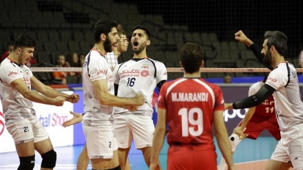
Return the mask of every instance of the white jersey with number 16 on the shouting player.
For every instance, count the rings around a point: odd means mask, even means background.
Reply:
[[[118,85],[119,97],[132,98],[136,93],[145,95],[147,103],[137,111],[121,107],[114,108],[114,114],[147,114],[152,115],[151,105],[154,89],[160,81],[167,81],[167,70],[163,63],[152,59],[132,59],[121,63],[114,69],[114,83]]]

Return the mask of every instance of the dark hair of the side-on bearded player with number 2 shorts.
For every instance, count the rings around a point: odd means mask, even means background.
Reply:
[[[100,19],[94,25],[94,41],[96,43],[101,41],[100,35],[108,35],[112,31],[112,28],[117,27],[117,23],[110,19]]]

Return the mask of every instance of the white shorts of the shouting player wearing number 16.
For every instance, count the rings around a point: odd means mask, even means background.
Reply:
[[[140,114],[115,114],[114,134],[119,148],[132,145],[132,138],[136,149],[151,147],[155,126],[151,116]]]

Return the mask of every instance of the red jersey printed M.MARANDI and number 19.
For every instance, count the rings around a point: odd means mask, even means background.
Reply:
[[[166,109],[172,144],[213,144],[213,111],[224,110],[220,87],[202,78],[178,78],[161,87],[158,107]]]

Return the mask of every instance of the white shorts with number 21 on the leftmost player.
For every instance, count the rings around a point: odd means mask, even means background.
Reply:
[[[10,123],[6,125],[6,129],[12,135],[15,145],[32,140],[40,142],[49,138],[48,132],[46,132],[36,117],[25,118],[21,121]]]

